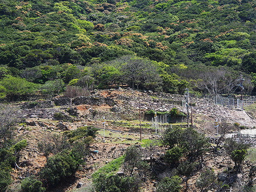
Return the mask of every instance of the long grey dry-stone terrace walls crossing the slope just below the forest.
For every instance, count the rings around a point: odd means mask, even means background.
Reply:
[[[73,105],[89,105],[92,108],[107,105],[110,110],[103,113],[96,113],[95,119],[105,115],[106,118],[122,119],[123,116],[134,113],[137,115],[140,107],[142,111],[169,111],[172,108],[178,108],[186,113],[186,108],[182,106],[184,100],[183,95],[174,95],[168,93],[153,93],[152,91],[138,92],[131,89],[111,89],[111,90],[94,90],[90,96],[69,98],[55,98],[52,101],[39,101],[24,103],[24,109],[27,117],[39,117],[52,119],[54,113],[62,113],[68,115],[65,110],[53,108],[55,105],[64,106],[63,108]],[[230,123],[238,122],[240,125],[247,127],[256,126],[256,120],[250,118],[245,111],[229,109],[213,102],[207,102],[204,99],[195,99],[192,106],[192,113],[212,117]],[[72,105],[72,106],[73,106]],[[116,118],[115,118],[116,116]]]

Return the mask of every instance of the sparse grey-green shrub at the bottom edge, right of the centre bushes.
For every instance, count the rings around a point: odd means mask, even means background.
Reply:
[[[201,189],[201,192],[206,192],[215,183],[216,175],[214,170],[206,168],[196,181],[196,186]]]

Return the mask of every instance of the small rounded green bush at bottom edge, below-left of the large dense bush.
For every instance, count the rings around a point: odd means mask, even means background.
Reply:
[[[26,177],[21,181],[22,192],[44,192],[45,188],[42,187],[42,182],[37,180],[34,175]]]

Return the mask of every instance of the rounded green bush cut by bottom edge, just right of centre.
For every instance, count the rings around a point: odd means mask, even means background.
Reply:
[[[171,178],[165,177],[157,184],[157,192],[179,192],[182,188],[180,183],[181,178],[177,175]]]

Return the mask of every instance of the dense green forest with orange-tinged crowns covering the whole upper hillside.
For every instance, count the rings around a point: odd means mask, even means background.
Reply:
[[[254,0],[1,0],[0,96],[256,85]]]

